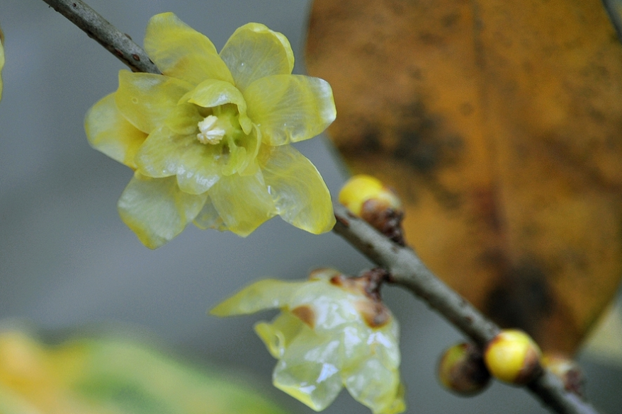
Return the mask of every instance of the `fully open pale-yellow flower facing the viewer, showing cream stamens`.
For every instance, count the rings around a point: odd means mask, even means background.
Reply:
[[[258,23],[237,29],[220,54],[173,13],[147,25],[159,74],[120,71],[119,88],[86,115],[96,149],[135,170],[123,221],[150,248],[189,222],[247,236],[281,215],[318,234],[334,225],[320,173],[288,145],[335,117],[326,81],[293,75],[288,40]]]

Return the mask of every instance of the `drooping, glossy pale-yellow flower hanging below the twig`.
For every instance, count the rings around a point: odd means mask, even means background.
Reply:
[[[261,280],[216,306],[217,316],[281,308],[255,326],[278,359],[274,385],[314,410],[323,410],[343,386],[373,413],[405,410],[400,384],[397,321],[368,293],[368,279],[316,270],[310,280]]]

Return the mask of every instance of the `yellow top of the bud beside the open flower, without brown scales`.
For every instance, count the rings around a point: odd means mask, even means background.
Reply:
[[[350,178],[339,191],[339,202],[358,217],[363,216],[365,204],[373,200],[382,208],[401,209],[395,192],[372,176],[360,174]]]

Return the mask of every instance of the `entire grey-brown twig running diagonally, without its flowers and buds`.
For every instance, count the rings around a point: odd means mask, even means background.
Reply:
[[[147,54],[127,35],[113,27],[92,8],[79,0],[43,0],[84,30],[134,71],[159,74]],[[409,289],[426,301],[481,347],[499,333],[499,326],[460,297],[426,268],[411,248],[402,247],[369,224],[354,217],[341,206],[334,206],[337,224],[333,231],[354,248],[390,272],[390,282]],[[597,414],[596,410],[573,393],[565,391],[561,381],[550,372],[528,384],[540,400],[560,414]]]

